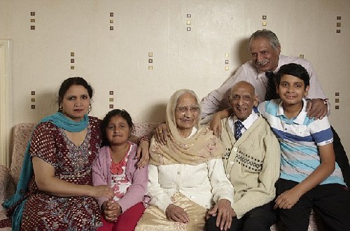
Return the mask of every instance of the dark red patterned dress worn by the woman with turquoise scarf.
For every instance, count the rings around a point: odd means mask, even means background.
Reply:
[[[31,156],[55,167],[59,179],[92,186],[92,162],[97,158],[101,134],[98,118],[89,118],[87,135],[80,146],[64,130],[41,123],[31,139]],[[55,197],[38,190],[32,177],[21,230],[96,230],[102,225],[99,206],[92,197]]]

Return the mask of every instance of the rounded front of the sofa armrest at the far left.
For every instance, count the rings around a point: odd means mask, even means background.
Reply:
[[[0,204],[15,193],[15,182],[10,174],[10,169],[0,165]]]

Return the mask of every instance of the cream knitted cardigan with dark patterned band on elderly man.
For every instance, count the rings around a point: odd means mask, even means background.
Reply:
[[[228,118],[221,120],[221,126],[226,147],[225,172],[235,188],[232,208],[241,218],[251,209],[274,200],[281,161],[279,141],[261,115],[237,141]]]

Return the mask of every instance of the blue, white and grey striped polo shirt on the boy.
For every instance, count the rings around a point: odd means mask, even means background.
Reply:
[[[330,144],[333,133],[328,118],[314,120],[307,116],[305,99],[302,111],[288,119],[283,113],[281,99],[262,102],[258,111],[264,116],[279,139],[281,146],[281,179],[301,182],[314,172],[321,160],[317,146]],[[335,171],[320,184],[345,185],[342,172],[335,163]]]

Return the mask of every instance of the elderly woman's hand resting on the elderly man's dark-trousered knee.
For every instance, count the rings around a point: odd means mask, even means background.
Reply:
[[[216,216],[216,227],[219,227],[220,230],[228,230],[231,228],[232,216],[236,214],[231,207],[231,202],[221,199],[208,211],[207,218],[209,216]]]

